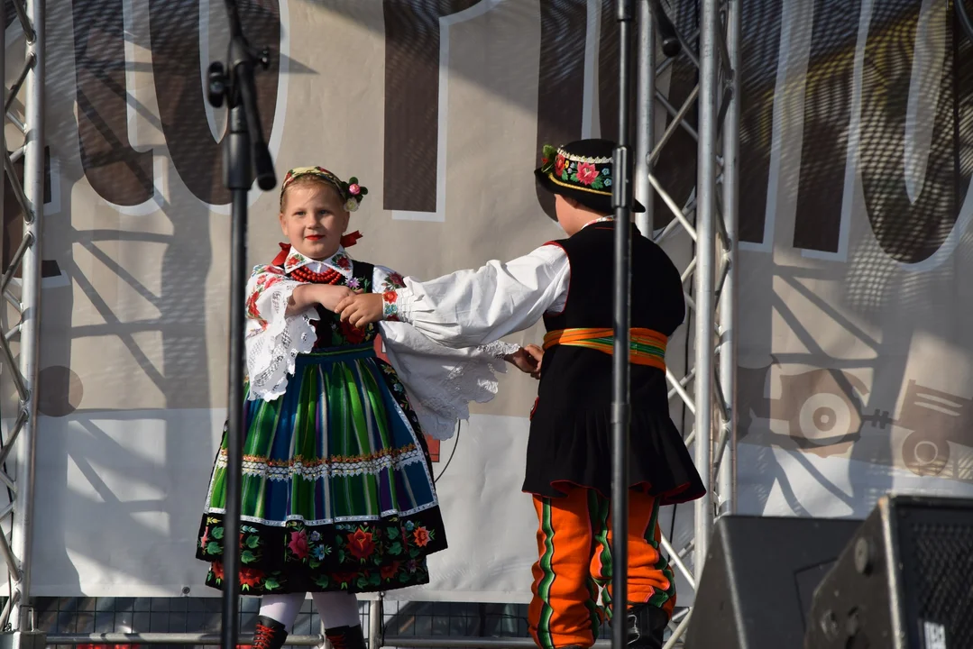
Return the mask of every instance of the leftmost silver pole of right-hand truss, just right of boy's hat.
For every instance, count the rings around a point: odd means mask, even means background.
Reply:
[[[639,0],[638,18],[638,52],[636,55],[636,69],[638,86],[636,92],[636,123],[635,123],[635,199],[645,206],[645,212],[635,214],[635,225],[642,236],[652,236],[654,227],[652,185],[649,184],[649,174],[652,173],[652,145],[656,141],[656,120],[654,94],[656,90],[656,25],[652,19],[649,0]]]

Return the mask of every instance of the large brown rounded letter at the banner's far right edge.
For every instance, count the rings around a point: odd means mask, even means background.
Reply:
[[[946,242],[970,187],[970,54],[946,3],[875,4],[859,169],[872,230],[904,264],[928,259]]]

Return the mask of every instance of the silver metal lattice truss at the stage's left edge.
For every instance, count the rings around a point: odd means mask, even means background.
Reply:
[[[8,143],[3,134],[6,129],[0,129],[4,171],[23,219],[23,234],[17,252],[0,279],[0,293],[16,321],[8,331],[0,331],[0,371],[13,383],[18,404],[16,417],[4,414],[7,421],[14,419],[14,422],[0,434],[0,483],[10,495],[9,502],[0,507],[0,520],[8,516],[13,518],[9,536],[0,533],[0,554],[6,560],[11,578],[11,593],[0,613],[0,630],[4,631],[27,631],[25,612],[30,587],[45,189],[44,4],[44,0],[13,0],[26,52],[17,79],[9,89],[6,80],[4,83],[4,126],[15,126],[22,133],[22,140],[18,137],[17,142]],[[3,14],[3,3],[0,3],[0,18],[4,18]],[[0,24],[5,21],[0,19]],[[6,62],[6,45],[5,35],[0,31],[0,70]],[[18,107],[22,107],[22,111]],[[23,160],[22,182],[16,168],[20,159]],[[3,192],[0,183],[0,204],[4,204]],[[10,220],[9,215],[5,216],[4,225]],[[8,463],[12,456],[13,462]],[[10,464],[15,467],[14,472],[8,471]]]

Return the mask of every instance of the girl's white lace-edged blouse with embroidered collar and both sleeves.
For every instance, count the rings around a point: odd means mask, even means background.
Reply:
[[[246,354],[250,379],[249,399],[273,401],[287,390],[298,354],[309,352],[317,338],[312,320],[313,306],[286,315],[288,301],[302,282],[286,273],[306,266],[322,272],[338,270],[352,288],[351,260],[343,248],[323,262],[292,251],[283,270],[257,266],[247,282]],[[371,290],[375,293],[401,290],[401,274],[376,266]],[[448,439],[456,421],[469,418],[470,402],[486,403],[497,392],[496,373],[506,372],[503,357],[520,347],[497,340],[489,344],[450,345],[435,343],[404,322],[378,323],[389,364],[406,387],[410,404],[425,433]],[[456,348],[458,347],[458,348]]]

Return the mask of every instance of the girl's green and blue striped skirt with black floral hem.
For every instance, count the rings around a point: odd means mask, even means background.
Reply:
[[[297,358],[287,392],[244,408],[240,592],[365,593],[425,584],[446,549],[428,452],[405,388],[372,343]],[[199,524],[223,586],[227,439]]]

